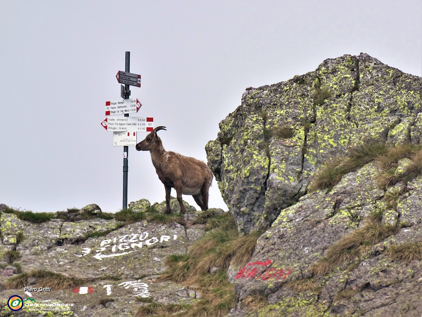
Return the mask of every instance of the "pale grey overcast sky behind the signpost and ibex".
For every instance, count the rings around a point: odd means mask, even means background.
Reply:
[[[203,161],[246,87],[360,52],[422,76],[420,0],[0,0],[0,30],[0,203],[34,212],[122,209],[123,147],[101,122],[122,100],[126,51],[142,78],[130,117],[153,117],[166,150]],[[130,146],[128,165],[128,202],[164,201],[149,153]],[[228,209],[215,180],[209,207]]]

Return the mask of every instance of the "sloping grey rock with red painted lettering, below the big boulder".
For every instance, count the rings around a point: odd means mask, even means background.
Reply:
[[[422,257],[402,261],[389,250],[421,241],[422,178],[411,180],[406,190],[403,183],[392,186],[390,191],[400,194],[390,209],[389,191],[374,179],[377,170],[367,164],[332,190],[306,194],[282,210],[249,261],[261,264],[228,272],[238,309],[262,294],[268,305],[259,316],[420,316]],[[368,226],[377,211],[379,222]],[[357,232],[365,238],[357,240]],[[336,256],[340,260],[331,268]]]

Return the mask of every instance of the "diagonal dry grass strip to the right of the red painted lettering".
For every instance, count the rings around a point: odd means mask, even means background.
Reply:
[[[381,224],[379,219],[371,218],[367,224],[346,235],[325,251],[325,257],[314,263],[310,271],[314,276],[324,276],[334,267],[346,262],[359,260],[371,250],[372,246],[398,231],[398,227]]]

